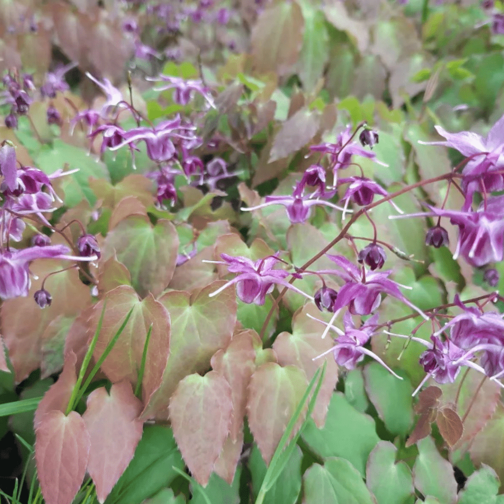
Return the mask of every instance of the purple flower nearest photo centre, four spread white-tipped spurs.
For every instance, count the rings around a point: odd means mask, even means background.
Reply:
[[[209,296],[215,296],[222,292],[229,285],[236,284],[236,294],[244,303],[254,303],[263,305],[266,301],[266,295],[273,292],[275,285],[282,285],[298,294],[301,294],[311,301],[313,298],[297,287],[289,284],[285,279],[289,275],[300,278],[299,274],[289,273],[281,269],[274,269],[280,262],[277,255],[265,257],[257,261],[251,261],[245,257],[232,257],[227,254],[221,254],[222,261],[205,261],[206,263],[223,264],[227,266],[230,273],[237,273],[229,282],[212,292]]]

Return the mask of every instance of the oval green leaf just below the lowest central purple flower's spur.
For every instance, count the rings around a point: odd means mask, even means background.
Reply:
[[[363,373],[367,396],[387,429],[406,437],[413,424],[413,387],[409,380],[398,380],[377,362],[367,364]]]

